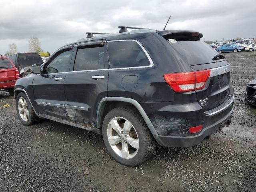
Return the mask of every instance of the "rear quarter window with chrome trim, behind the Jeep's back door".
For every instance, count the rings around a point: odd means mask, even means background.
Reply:
[[[149,66],[150,61],[135,41],[108,42],[110,68]]]

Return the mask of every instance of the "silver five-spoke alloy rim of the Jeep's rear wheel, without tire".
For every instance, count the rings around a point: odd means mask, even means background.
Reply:
[[[130,121],[123,117],[110,120],[107,128],[108,142],[114,152],[124,158],[133,158],[139,149],[139,138]]]

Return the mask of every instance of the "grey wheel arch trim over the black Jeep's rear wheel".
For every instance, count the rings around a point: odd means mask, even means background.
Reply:
[[[120,106],[122,104],[134,106],[138,110],[138,112],[140,113],[140,115],[142,116],[144,121],[146,122],[148,128],[150,129],[150,132],[152,133],[152,135],[158,142],[158,137],[156,137],[156,135],[158,135],[158,134],[157,134],[153,124],[151,123],[150,119],[148,118],[146,112],[144,111],[142,106],[136,100],[134,100],[132,98],[125,98],[125,97],[102,98],[102,100],[100,101],[100,103],[98,105],[98,110],[97,110],[97,118],[96,118],[97,128],[102,128],[102,122],[104,119],[104,114],[106,114],[106,108],[108,108],[108,104],[111,104],[111,102],[116,102],[115,103],[116,106]]]

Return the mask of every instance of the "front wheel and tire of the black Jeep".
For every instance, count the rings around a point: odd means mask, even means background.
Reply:
[[[20,99],[23,100],[23,105],[21,102],[19,102]],[[26,101],[26,103],[24,101]],[[23,116],[22,114],[20,114],[19,109],[20,111],[23,111]],[[36,116],[24,92],[20,92],[16,98],[16,111],[18,118],[23,125],[30,126],[40,121],[40,118]],[[26,114],[26,116],[24,113]]]

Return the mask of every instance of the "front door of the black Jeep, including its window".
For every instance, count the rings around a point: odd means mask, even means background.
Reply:
[[[65,109],[64,79],[70,68],[72,47],[60,50],[42,67],[33,80],[37,112],[69,119]]]

